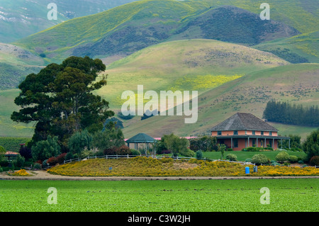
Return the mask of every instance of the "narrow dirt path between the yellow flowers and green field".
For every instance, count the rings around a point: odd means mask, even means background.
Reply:
[[[7,172],[0,173],[1,180],[53,180],[53,181],[154,181],[154,180],[226,180],[226,179],[292,179],[311,178],[319,176],[60,176],[47,171],[28,171],[32,176],[9,176]]]

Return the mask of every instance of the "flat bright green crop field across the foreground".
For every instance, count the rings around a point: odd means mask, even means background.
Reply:
[[[57,189],[57,205],[47,203]],[[263,205],[261,188],[269,188]],[[1,212],[309,212],[318,179],[0,181]]]

